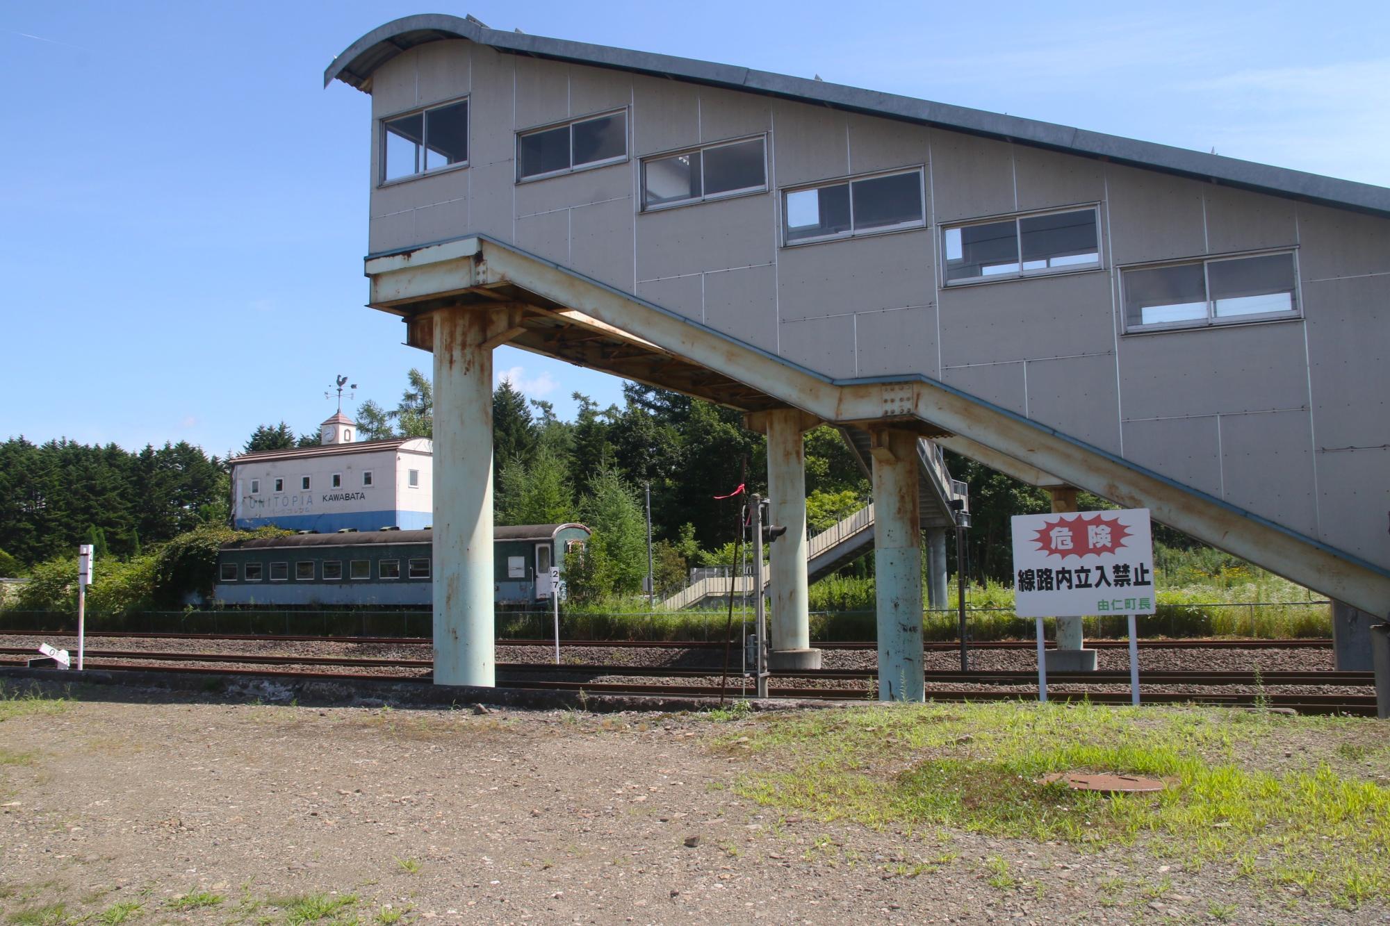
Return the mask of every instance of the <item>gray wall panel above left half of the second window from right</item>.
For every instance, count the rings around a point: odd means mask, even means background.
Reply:
[[[938,222],[1012,213],[1013,146],[933,131],[931,188]]]

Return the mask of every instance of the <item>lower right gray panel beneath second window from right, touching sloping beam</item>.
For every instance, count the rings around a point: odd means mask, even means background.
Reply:
[[[1030,419],[1102,450],[1120,452],[1113,355],[1030,360],[1026,374]]]

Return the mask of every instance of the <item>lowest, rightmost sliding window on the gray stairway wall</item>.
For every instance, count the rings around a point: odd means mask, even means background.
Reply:
[[[1195,328],[1295,318],[1291,252],[1136,267],[1120,274],[1125,330]]]

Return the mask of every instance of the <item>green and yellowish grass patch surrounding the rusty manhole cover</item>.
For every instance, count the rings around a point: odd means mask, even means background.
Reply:
[[[909,833],[1115,844],[1282,897],[1390,902],[1390,744],[1375,722],[1095,705],[891,706],[762,716],[737,790],[784,812]],[[1041,784],[1086,770],[1170,780],[1154,795]]]

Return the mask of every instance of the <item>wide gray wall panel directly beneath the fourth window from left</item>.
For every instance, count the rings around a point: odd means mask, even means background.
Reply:
[[[931,303],[931,232],[867,235],[784,247],[777,256],[784,321]]]

